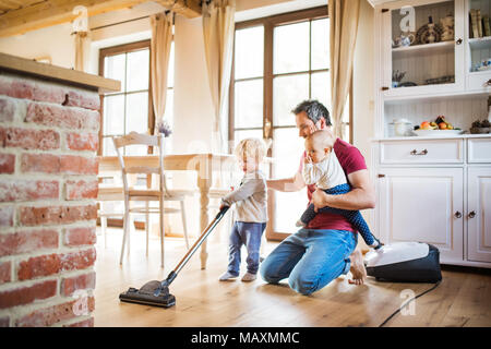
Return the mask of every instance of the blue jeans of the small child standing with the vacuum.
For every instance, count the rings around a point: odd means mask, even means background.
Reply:
[[[244,222],[236,221],[230,232],[230,240],[228,244],[228,272],[231,275],[238,276],[240,270],[240,249],[242,244],[248,250],[248,272],[256,274],[259,268],[261,237],[265,222]]]

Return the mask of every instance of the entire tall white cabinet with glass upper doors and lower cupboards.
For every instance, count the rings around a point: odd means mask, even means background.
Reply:
[[[491,0],[372,3],[373,231],[387,243],[432,243],[442,263],[491,267],[491,134],[468,133],[491,115],[491,33],[476,32],[470,15],[491,17]],[[452,20],[454,33],[442,35]],[[396,119],[416,127],[440,116],[467,133],[394,134]]]

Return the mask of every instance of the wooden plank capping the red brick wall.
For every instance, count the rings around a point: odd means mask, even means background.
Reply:
[[[106,79],[77,70],[39,63],[29,59],[0,53],[0,71],[5,70],[89,87],[91,89],[97,89],[99,94],[118,92],[121,89],[121,82],[118,80]]]

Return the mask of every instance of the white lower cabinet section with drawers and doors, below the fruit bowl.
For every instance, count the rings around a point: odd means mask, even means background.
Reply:
[[[374,145],[373,231],[382,241],[427,242],[440,250],[443,264],[491,267],[491,135],[380,140]],[[430,151],[407,156],[411,147]],[[430,154],[412,161],[411,156]]]

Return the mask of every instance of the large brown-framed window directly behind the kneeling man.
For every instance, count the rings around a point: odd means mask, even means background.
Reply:
[[[248,136],[272,139],[273,178],[292,176],[300,165],[303,140],[291,109],[318,99],[331,110],[328,21],[321,7],[236,24],[230,145]],[[350,142],[349,100],[343,124],[343,139]],[[273,224],[266,233],[283,239],[306,208],[306,193],[274,192],[270,200]]]

